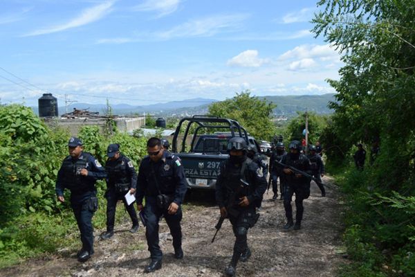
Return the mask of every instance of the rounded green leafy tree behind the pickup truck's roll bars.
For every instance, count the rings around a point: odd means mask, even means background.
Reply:
[[[271,120],[275,107],[266,100],[250,96],[250,91],[246,90],[234,98],[212,103],[209,114],[237,120],[255,138],[270,140],[275,135],[275,125]]]

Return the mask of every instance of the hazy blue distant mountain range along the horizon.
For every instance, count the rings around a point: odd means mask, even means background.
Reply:
[[[293,116],[297,111],[315,111],[316,114],[331,114],[333,111],[327,107],[329,101],[334,101],[334,93],[323,95],[304,96],[264,96],[261,99],[273,102],[277,105],[274,109],[276,116]],[[156,116],[187,116],[192,114],[206,114],[212,102],[218,100],[208,98],[192,98],[181,101],[156,103],[153,105],[132,106],[128,104],[111,105],[112,114],[132,115],[149,113]],[[88,109],[98,111],[100,114],[107,114],[107,105],[75,103],[68,106],[68,112],[73,109]],[[39,114],[38,107],[32,107],[36,114]],[[66,113],[65,107],[58,107],[59,115]]]

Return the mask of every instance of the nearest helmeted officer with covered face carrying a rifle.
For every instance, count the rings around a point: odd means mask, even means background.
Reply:
[[[259,206],[266,190],[266,179],[257,163],[246,156],[246,141],[235,136],[228,142],[229,159],[221,163],[216,181],[216,202],[221,217],[228,217],[236,240],[230,265],[225,273],[234,276],[237,262],[245,262],[251,255],[247,243],[248,229],[254,226]]]

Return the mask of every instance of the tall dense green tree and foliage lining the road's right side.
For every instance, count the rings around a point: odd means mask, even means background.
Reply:
[[[415,252],[409,224],[415,193],[414,1],[322,0],[318,5],[322,11],[313,19],[313,31],[342,53],[345,64],[340,80],[329,80],[338,91],[337,102],[330,104],[335,110],[331,138],[349,149],[359,141],[368,149],[380,139],[373,166],[350,170],[344,183],[351,194],[349,252],[366,269],[380,271],[386,262],[412,276],[414,256],[405,253]],[[390,255],[362,262],[366,253],[377,251],[375,257],[382,250]]]

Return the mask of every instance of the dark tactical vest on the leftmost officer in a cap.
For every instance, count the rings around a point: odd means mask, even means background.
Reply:
[[[62,163],[62,170],[64,172],[62,183],[65,188],[71,190],[71,193],[84,193],[93,190],[93,186],[91,188],[88,182],[86,182],[85,177],[81,175],[81,170],[88,165],[86,153],[82,153],[82,156],[82,159],[77,160],[68,156]]]

